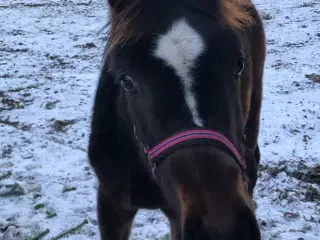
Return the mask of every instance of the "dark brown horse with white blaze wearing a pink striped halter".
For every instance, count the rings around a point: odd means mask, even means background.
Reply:
[[[103,240],[158,209],[173,240],[258,240],[266,55],[250,0],[108,0],[88,161]]]

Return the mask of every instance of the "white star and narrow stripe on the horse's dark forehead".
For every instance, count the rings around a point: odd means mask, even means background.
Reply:
[[[172,24],[167,33],[157,41],[155,56],[171,66],[180,77],[184,88],[184,98],[197,126],[203,126],[203,121],[197,109],[197,100],[192,91],[194,79],[191,73],[197,59],[203,53],[204,42],[185,19]]]

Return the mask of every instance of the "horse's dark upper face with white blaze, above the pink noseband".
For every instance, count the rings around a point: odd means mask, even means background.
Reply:
[[[111,69],[146,147],[186,128],[241,134],[240,81],[246,71],[230,29],[201,32],[186,19],[111,54]],[[154,37],[156,36],[156,37]]]

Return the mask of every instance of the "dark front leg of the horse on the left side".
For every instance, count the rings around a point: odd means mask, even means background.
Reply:
[[[128,210],[108,199],[98,189],[98,221],[101,240],[128,240],[137,210]]]

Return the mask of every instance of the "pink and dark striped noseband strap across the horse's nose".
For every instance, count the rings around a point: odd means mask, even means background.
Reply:
[[[220,143],[223,147],[229,150],[240,168],[243,171],[247,170],[247,165],[236,147],[223,134],[213,130],[186,130],[165,139],[149,150],[144,149],[144,152],[148,156],[148,159],[155,170],[161,159],[175,152],[179,148],[192,145],[212,145],[213,143]]]

